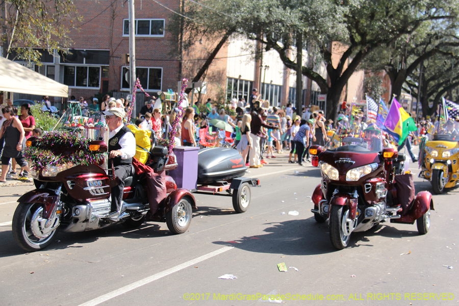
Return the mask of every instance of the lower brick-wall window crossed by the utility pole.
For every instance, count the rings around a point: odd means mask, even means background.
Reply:
[[[144,90],[161,90],[163,68],[136,67],[136,79]],[[129,68],[123,67],[121,71],[121,89],[129,90]]]

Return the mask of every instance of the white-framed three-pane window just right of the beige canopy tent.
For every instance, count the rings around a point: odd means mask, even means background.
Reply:
[[[70,87],[100,88],[100,67],[64,66],[64,84]]]

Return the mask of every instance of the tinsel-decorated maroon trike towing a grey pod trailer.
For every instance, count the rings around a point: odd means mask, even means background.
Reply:
[[[177,188],[167,175],[177,168],[173,152],[152,145],[146,165],[134,160],[131,176],[124,180],[120,219],[112,223],[111,187],[119,178],[108,163],[108,134],[104,125],[82,126],[28,139],[25,155],[36,189],[17,200],[12,232],[20,247],[42,249],[58,231],[83,232],[116,223],[138,227],[146,220],[166,222],[173,234],[182,234],[196,209],[191,192],[226,191],[236,212],[242,213],[250,203],[250,186],[260,186],[257,179],[241,177],[246,167],[236,150],[213,148],[199,154],[196,190]],[[155,180],[159,173],[163,176]]]

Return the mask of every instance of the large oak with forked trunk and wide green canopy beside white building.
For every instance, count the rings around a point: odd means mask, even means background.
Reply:
[[[284,64],[296,70],[296,35],[305,42],[302,74],[327,94],[327,118],[336,116],[341,92],[359,64],[381,46],[422,29],[428,22],[454,22],[459,0],[203,0],[187,2],[184,15],[170,23],[183,27],[184,48],[203,37],[219,37],[228,29],[262,42],[263,49],[274,49]],[[178,35],[177,35],[178,37]],[[419,38],[421,39],[421,37]],[[339,42],[340,51],[331,49]],[[293,52],[292,52],[293,50]],[[333,53],[342,54],[332,62]],[[292,56],[293,55],[293,56]],[[308,59],[306,61],[305,59]],[[388,58],[391,58],[390,53]],[[326,66],[327,75],[318,73]]]

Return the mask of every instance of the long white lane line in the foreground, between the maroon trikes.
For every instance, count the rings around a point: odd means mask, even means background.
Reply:
[[[232,246],[222,247],[221,249],[218,249],[216,251],[210,252],[210,253],[208,253],[206,255],[203,255],[201,257],[192,259],[192,260],[187,261],[187,262],[185,262],[183,264],[180,264],[180,265],[175,266],[173,268],[167,269],[167,270],[165,270],[163,272],[160,272],[160,273],[145,277],[144,279],[141,279],[140,281],[137,281],[137,282],[132,283],[130,285],[124,286],[124,287],[119,288],[119,289],[117,289],[115,291],[112,291],[110,293],[107,293],[107,294],[101,295],[99,297],[96,297],[95,299],[87,301],[86,303],[83,303],[83,304],[81,304],[79,306],[95,306],[97,304],[103,303],[103,302],[108,301],[109,299],[112,299],[112,298],[114,298],[114,297],[116,297],[118,295],[124,294],[126,292],[131,291],[131,290],[139,288],[139,287],[141,287],[143,285],[146,285],[148,283],[156,281],[157,279],[159,279],[161,277],[167,276],[167,275],[172,274],[174,272],[177,272],[177,271],[180,271],[182,269],[185,269],[185,268],[187,268],[189,266],[195,265],[198,262],[201,262],[203,260],[206,260],[206,259],[209,259],[211,257],[214,257],[214,256],[216,256],[218,254],[226,252],[227,250],[231,250],[232,248],[234,248],[234,247],[232,247]]]

